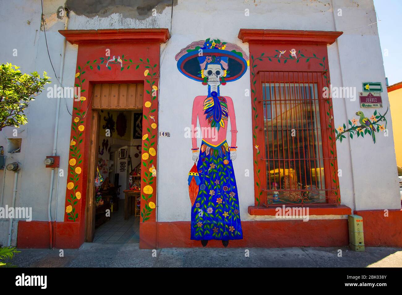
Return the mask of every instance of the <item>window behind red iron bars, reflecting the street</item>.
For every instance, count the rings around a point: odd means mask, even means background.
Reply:
[[[260,73],[261,74],[261,73]],[[262,73],[265,182],[272,204],[322,204],[333,187],[321,72]],[[333,158],[332,158],[333,159]]]

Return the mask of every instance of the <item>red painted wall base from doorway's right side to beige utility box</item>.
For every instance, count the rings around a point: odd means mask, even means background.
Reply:
[[[349,244],[345,219],[246,221],[242,222],[242,229],[243,239],[230,241],[229,247],[329,247]],[[142,249],[202,246],[200,241],[190,240],[190,222],[142,223],[139,236],[139,248]],[[211,240],[207,247],[223,245],[220,240]]]

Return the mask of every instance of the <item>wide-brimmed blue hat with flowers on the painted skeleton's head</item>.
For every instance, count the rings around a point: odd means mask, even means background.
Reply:
[[[202,56],[199,56],[202,49]],[[206,82],[203,71],[208,64],[219,64],[224,69],[222,82],[239,79],[246,73],[249,58],[236,44],[219,39],[193,42],[176,55],[177,68],[183,75],[195,81]]]

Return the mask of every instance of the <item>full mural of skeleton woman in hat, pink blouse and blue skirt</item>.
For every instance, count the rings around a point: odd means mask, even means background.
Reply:
[[[236,116],[232,98],[221,96],[220,86],[240,79],[249,59],[237,45],[207,39],[193,42],[176,55],[178,70],[207,85],[207,95],[193,102],[191,137],[193,161],[188,177],[191,199],[191,239],[229,240],[243,238],[239,196],[232,161],[236,159]],[[197,119],[202,132],[197,146]],[[231,144],[226,141],[228,120]],[[207,130],[205,132],[205,130]],[[193,197],[191,194],[193,193]]]

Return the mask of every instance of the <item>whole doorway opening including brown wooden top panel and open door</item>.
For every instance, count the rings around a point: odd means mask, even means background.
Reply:
[[[94,85],[87,242],[139,242],[143,89]]]

